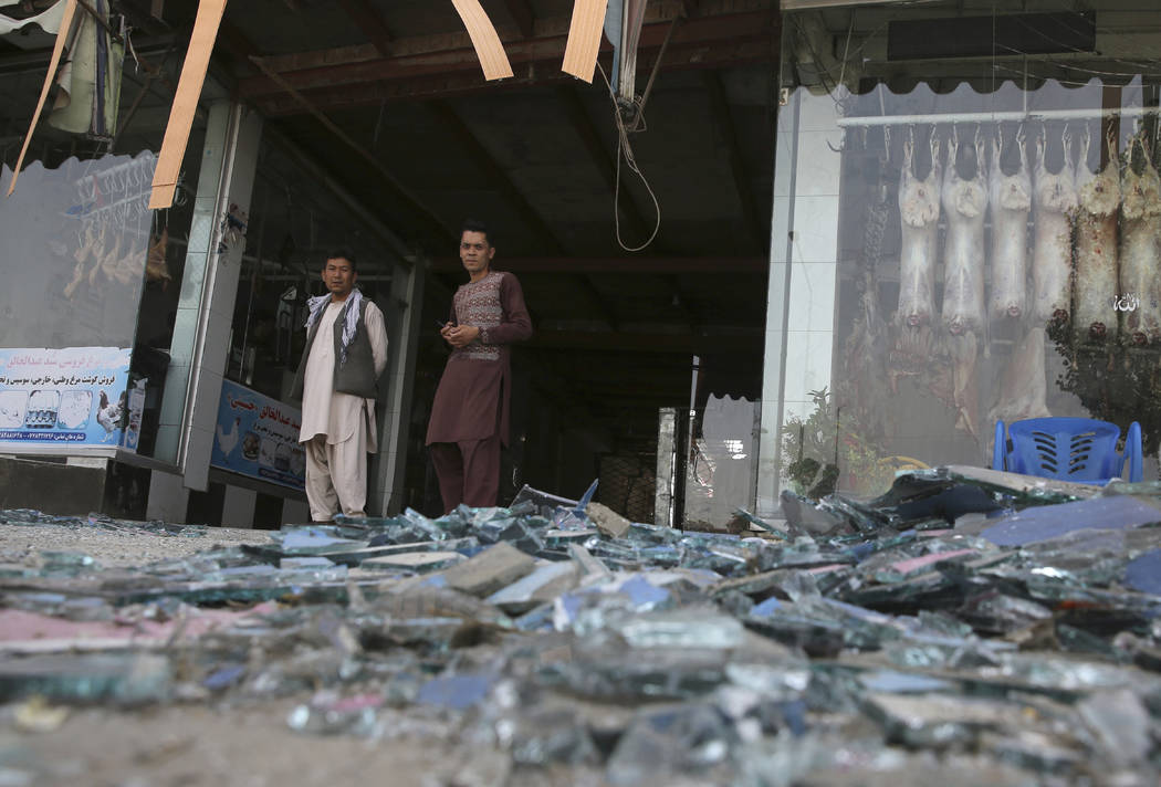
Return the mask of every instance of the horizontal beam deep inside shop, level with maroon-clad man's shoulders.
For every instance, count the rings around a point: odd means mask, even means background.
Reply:
[[[769,261],[763,257],[505,257],[496,266],[512,273],[583,273],[669,275],[762,274]],[[456,257],[433,257],[434,273],[461,273]]]

